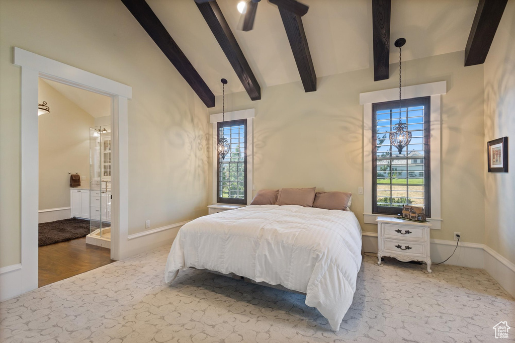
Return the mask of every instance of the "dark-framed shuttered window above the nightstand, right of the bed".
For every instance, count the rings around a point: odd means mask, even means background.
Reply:
[[[431,216],[431,98],[372,104],[372,213],[399,214],[404,204]],[[402,153],[390,144],[392,127],[407,123],[411,141]]]

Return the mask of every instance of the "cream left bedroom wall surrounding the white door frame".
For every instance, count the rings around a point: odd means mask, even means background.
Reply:
[[[0,267],[20,263],[21,74],[13,46],[132,87],[129,234],[144,231],[146,219],[153,229],[207,214],[207,109],[122,2],[2,0]]]

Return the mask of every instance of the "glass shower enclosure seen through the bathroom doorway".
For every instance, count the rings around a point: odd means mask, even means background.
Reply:
[[[88,238],[89,237],[89,238]],[[110,248],[111,126],[90,128],[90,234],[87,243]]]

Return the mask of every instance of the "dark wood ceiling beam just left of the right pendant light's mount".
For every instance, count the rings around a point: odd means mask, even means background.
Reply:
[[[372,0],[374,81],[390,77],[391,0]]]

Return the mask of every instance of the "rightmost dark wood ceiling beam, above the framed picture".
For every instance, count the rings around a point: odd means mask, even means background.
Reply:
[[[479,0],[465,47],[465,66],[485,63],[508,0]]]

